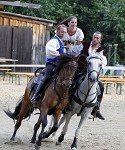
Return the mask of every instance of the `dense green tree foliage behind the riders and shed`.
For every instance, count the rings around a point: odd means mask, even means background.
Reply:
[[[22,0],[40,4],[39,10],[7,7],[6,10],[24,15],[54,20],[56,24],[70,15],[78,18],[78,26],[86,40],[95,31],[103,33],[103,45],[108,52],[109,44],[118,44],[117,61],[125,64],[125,0]],[[22,2],[21,1],[21,2]],[[112,48],[112,50],[114,47]]]

